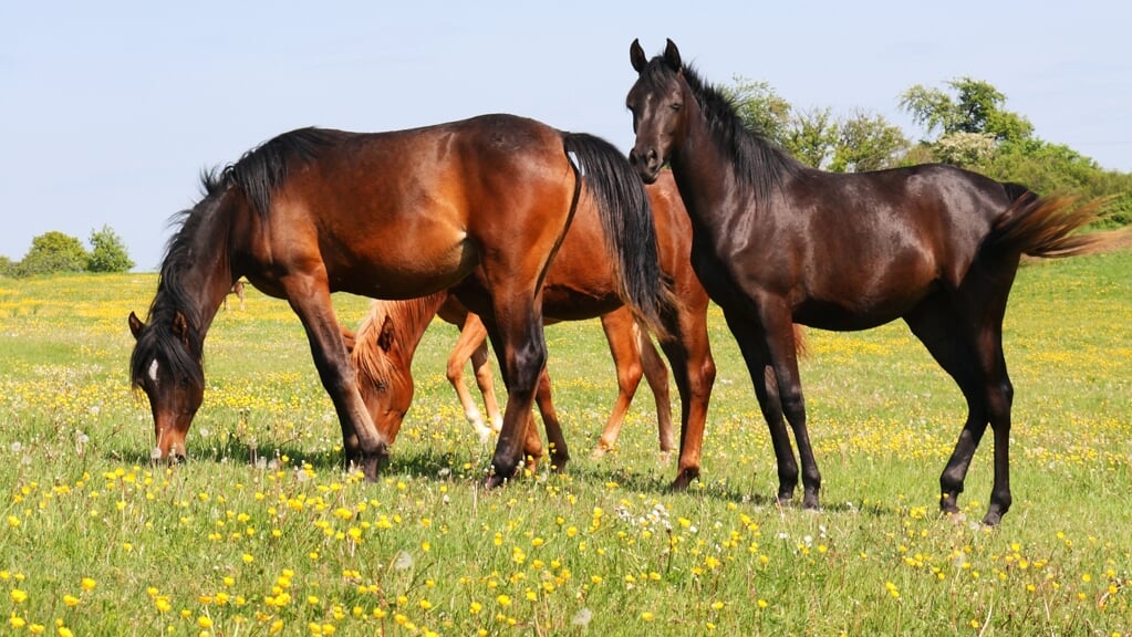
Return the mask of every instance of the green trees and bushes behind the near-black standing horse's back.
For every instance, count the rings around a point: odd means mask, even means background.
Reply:
[[[814,167],[858,172],[952,164],[1041,195],[1112,197],[1103,225],[1132,224],[1132,173],[1105,170],[1064,144],[1038,138],[1034,124],[1007,110],[1006,96],[986,81],[963,77],[944,88],[916,85],[902,93],[900,109],[925,132],[917,141],[878,114],[795,109],[765,81],[736,77],[723,89],[749,128]]]

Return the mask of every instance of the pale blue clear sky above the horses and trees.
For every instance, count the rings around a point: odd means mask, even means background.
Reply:
[[[989,81],[1036,134],[1132,171],[1132,3],[5,2],[0,255],[111,226],[155,269],[201,169],[303,126],[392,130],[486,112],[632,145],[628,48],[671,37],[717,84],[796,107],[898,110]]]

